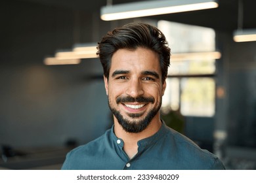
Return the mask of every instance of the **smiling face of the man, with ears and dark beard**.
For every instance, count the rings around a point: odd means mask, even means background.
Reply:
[[[108,105],[125,131],[139,133],[159,120],[165,82],[158,55],[146,48],[119,49],[112,56],[109,79],[104,77]]]

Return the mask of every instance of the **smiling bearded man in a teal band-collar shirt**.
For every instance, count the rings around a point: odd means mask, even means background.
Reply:
[[[170,49],[159,29],[127,24],[98,43],[114,125],[68,153],[62,169],[224,169],[160,119]]]

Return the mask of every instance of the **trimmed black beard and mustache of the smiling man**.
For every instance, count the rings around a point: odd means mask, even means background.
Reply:
[[[117,97],[116,99],[116,103],[125,103],[125,102],[145,102],[145,103],[154,103],[154,98],[152,97],[137,97],[137,98],[133,98],[133,97]],[[121,125],[121,127],[123,127],[123,129],[129,133],[140,133],[141,131],[143,131],[144,129],[146,129],[146,127],[148,127],[148,125],[150,124],[150,122],[152,121],[152,119],[154,118],[154,116],[156,116],[156,114],[158,113],[158,111],[161,108],[161,100],[160,103],[158,104],[158,106],[156,108],[153,108],[152,110],[150,110],[148,112],[148,114],[146,115],[146,117],[142,120],[139,120],[137,122],[133,122],[133,121],[129,121],[125,118],[123,118],[123,116],[121,115],[121,113],[119,111],[117,111],[115,108],[110,106],[110,99],[108,98],[108,106],[110,107],[110,110],[112,111],[112,113],[114,114],[114,116],[116,116],[117,118],[117,122]],[[142,114],[128,114],[131,118],[138,118],[140,116],[142,116]]]

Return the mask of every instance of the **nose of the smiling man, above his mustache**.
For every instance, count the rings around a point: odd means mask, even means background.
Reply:
[[[143,86],[139,79],[133,78],[129,81],[126,94],[134,98],[144,94]]]

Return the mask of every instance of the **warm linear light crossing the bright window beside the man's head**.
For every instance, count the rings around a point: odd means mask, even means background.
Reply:
[[[171,61],[195,60],[195,59],[220,59],[220,52],[194,52],[171,54]]]

